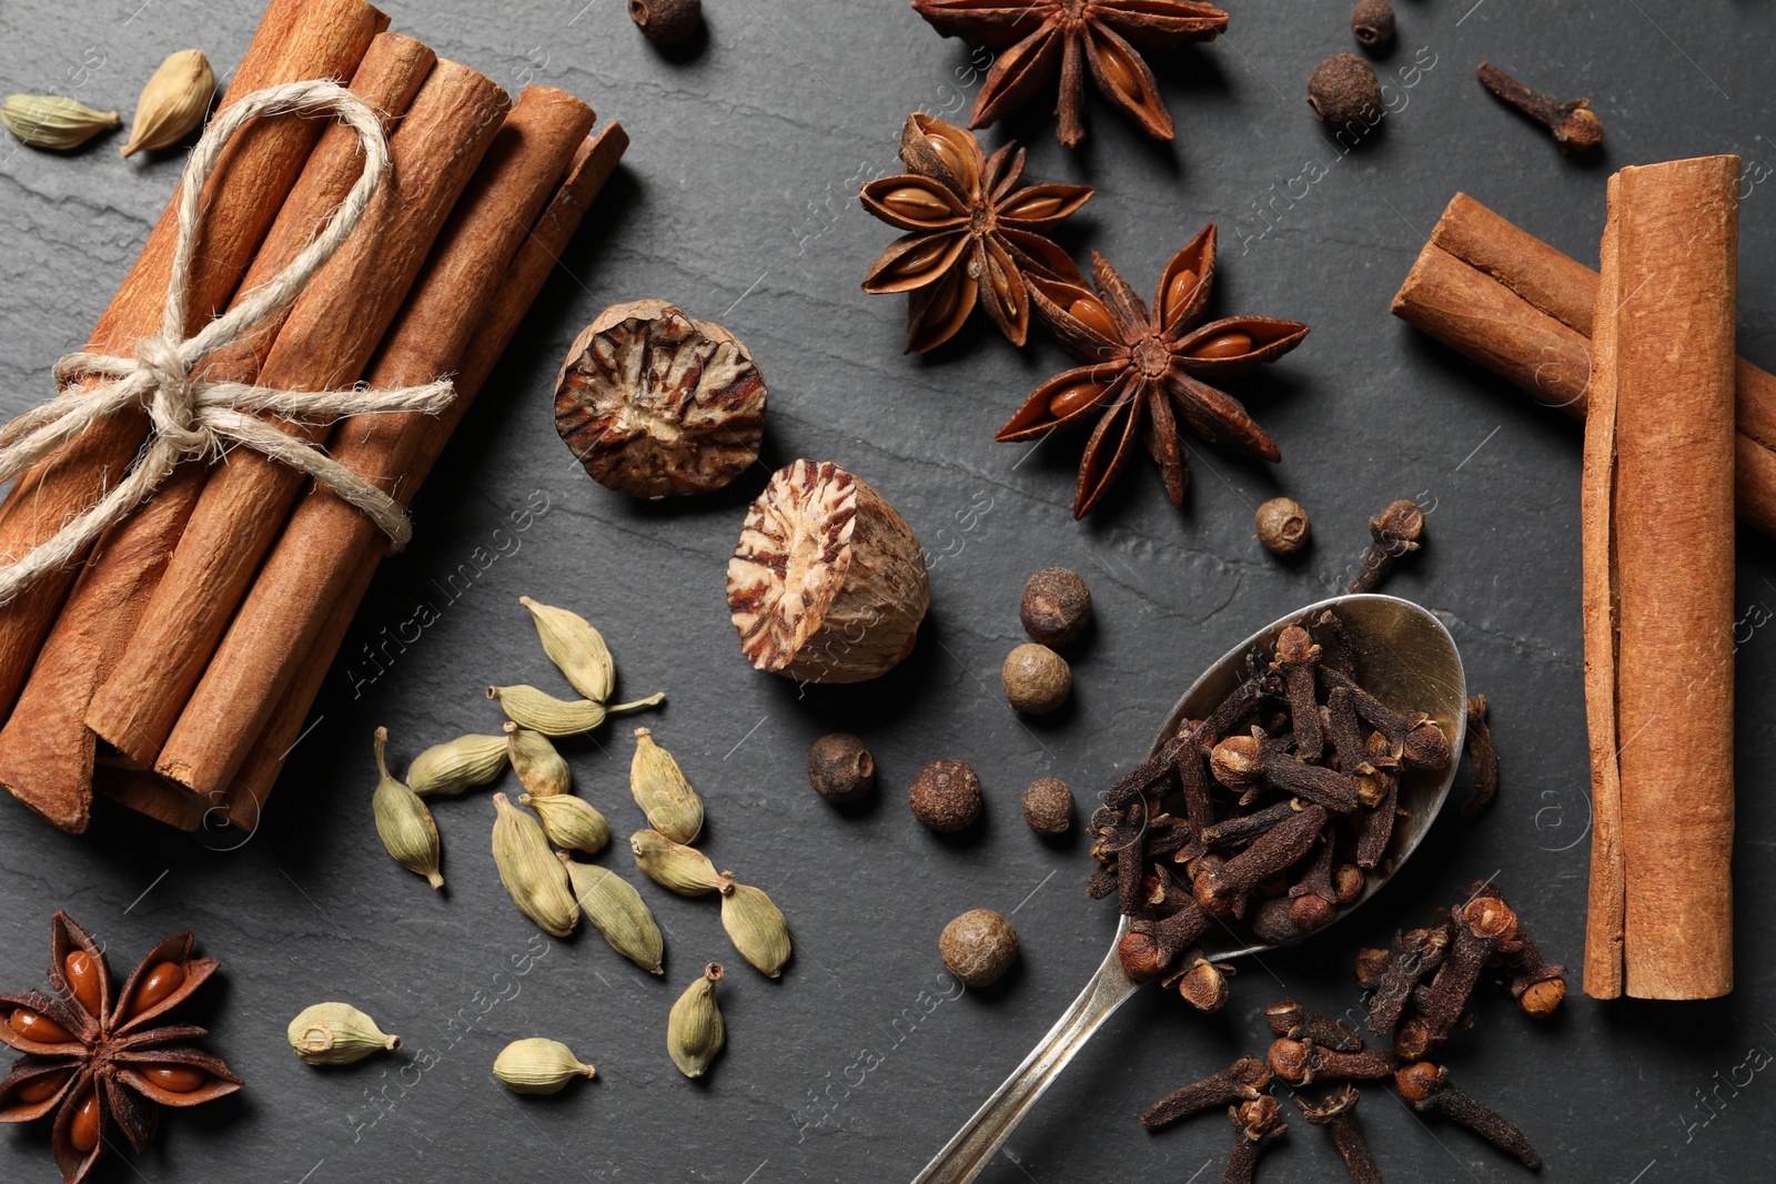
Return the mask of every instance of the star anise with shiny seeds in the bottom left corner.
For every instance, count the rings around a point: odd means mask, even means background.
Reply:
[[[220,1058],[192,1047],[202,1028],[155,1021],[183,1003],[220,962],[169,937],[114,992],[105,955],[57,912],[50,921],[55,994],[0,994],[0,1040],[25,1053],[0,1081],[0,1122],[55,1111],[50,1147],[64,1184],[83,1180],[119,1131],[140,1154],[162,1106],[197,1106],[242,1086]]]

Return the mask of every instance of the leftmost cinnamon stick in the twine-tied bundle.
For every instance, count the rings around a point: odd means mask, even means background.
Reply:
[[[387,16],[362,0],[272,0],[222,107],[284,82],[350,76],[371,37],[387,23]],[[323,126],[313,119],[261,119],[229,142],[204,186],[204,227],[190,272],[188,334],[234,295]],[[89,348],[130,355],[139,339],[160,330],[178,243],[176,201],[174,195],[167,202],[92,330]],[[0,556],[23,556],[96,502],[135,458],[146,433],[146,415],[114,415],[14,481],[0,506]],[[53,572],[0,605],[0,712],[12,710],[76,573],[73,564]]]

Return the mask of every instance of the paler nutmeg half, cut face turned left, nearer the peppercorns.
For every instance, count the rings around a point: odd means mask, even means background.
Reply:
[[[757,669],[863,682],[913,651],[931,607],[925,556],[867,481],[831,462],[780,469],[728,559],[728,611]]]

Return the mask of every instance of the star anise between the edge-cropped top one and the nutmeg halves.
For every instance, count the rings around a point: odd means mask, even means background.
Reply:
[[[900,160],[911,170],[863,186],[863,208],[908,231],[870,264],[868,293],[909,293],[906,351],[955,335],[979,300],[1021,346],[1030,332],[1027,275],[1085,282],[1067,252],[1037,234],[1071,217],[1089,185],[1030,185],[1014,142],[987,158],[963,128],[908,115]]]

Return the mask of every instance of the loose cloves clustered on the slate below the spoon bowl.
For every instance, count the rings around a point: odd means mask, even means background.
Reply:
[[[1474,987],[1492,975],[1529,1015],[1547,1015],[1566,996],[1565,967],[1549,962],[1517,921],[1490,880],[1474,884],[1465,904],[1440,914],[1428,928],[1396,934],[1391,950],[1362,950],[1357,980],[1369,992],[1366,1030],[1382,1040],[1364,1046],[1364,1035],[1341,1019],[1284,999],[1265,1008],[1275,1042],[1265,1060],[1241,1056],[1222,1072],[1162,1097],[1140,1124],[1162,1131],[1174,1122],[1227,1108],[1234,1148],[1227,1180],[1250,1180],[1259,1152],[1288,1127],[1266,1093],[1272,1081],[1291,1090],[1309,1124],[1325,1127],[1355,1184],[1380,1184],[1375,1157],[1357,1125],[1359,1090],[1353,1081],[1392,1079],[1399,1099],[1417,1113],[1456,1122],[1526,1168],[1542,1156],[1529,1138],[1485,1104],[1462,1092],[1449,1070],[1431,1062],[1451,1031],[1472,1026],[1467,1006]],[[1323,1101],[1302,1093],[1307,1086],[1337,1085]]]

